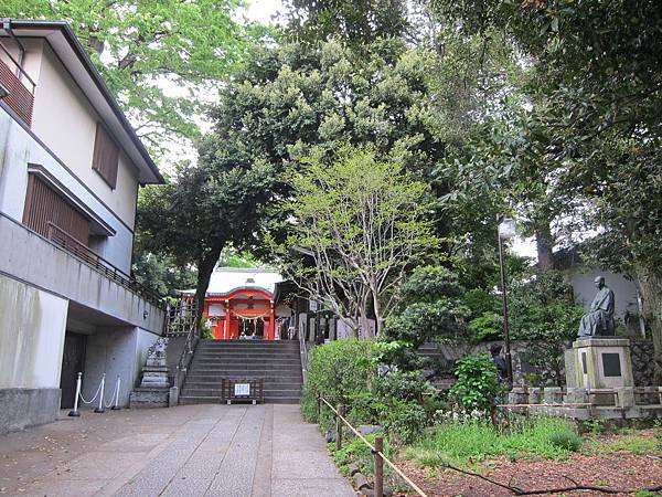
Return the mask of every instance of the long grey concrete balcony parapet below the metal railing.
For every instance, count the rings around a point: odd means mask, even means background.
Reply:
[[[0,233],[0,274],[30,282],[127,326],[162,332],[163,310],[1,212]]]

